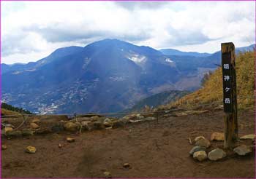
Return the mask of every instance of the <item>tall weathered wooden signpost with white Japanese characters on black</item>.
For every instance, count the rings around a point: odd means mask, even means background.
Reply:
[[[233,148],[238,140],[235,46],[222,44],[223,104],[225,112],[225,148]]]

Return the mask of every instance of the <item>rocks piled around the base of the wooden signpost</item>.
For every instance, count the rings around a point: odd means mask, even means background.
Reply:
[[[242,139],[253,139],[255,135],[246,135],[241,137]],[[211,141],[223,141],[224,134],[221,132],[214,132],[211,134]],[[211,161],[217,161],[219,159],[223,159],[227,156],[226,152],[221,148],[214,148],[209,151],[207,154],[208,148],[211,146],[211,142],[203,136],[198,136],[195,138],[195,146],[189,151],[189,154],[193,156],[194,159],[202,162],[206,159]],[[233,148],[233,151],[239,156],[245,156],[246,154],[250,154],[252,152],[252,146],[241,145]]]

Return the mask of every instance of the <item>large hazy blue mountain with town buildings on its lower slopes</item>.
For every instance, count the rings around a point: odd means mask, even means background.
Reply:
[[[169,90],[196,90],[219,58],[164,55],[105,39],[2,68],[2,100],[40,114],[116,112]]]

